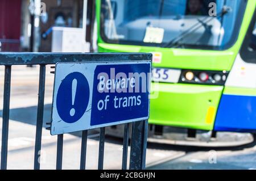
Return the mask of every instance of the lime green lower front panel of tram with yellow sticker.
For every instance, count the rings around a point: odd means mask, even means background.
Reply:
[[[149,123],[210,131],[223,88],[153,82]]]

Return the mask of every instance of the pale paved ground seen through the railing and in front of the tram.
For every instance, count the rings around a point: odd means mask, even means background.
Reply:
[[[44,127],[51,113],[53,75],[46,75]],[[0,68],[0,110],[3,98],[3,67]],[[11,79],[8,169],[32,169],[39,68],[14,66]],[[2,111],[0,111],[0,116]],[[0,131],[2,117],[0,117]],[[79,135],[76,134],[76,135]],[[1,135],[0,135],[1,138]],[[98,133],[90,132],[86,169],[97,169]],[[1,144],[1,143],[0,143]],[[79,169],[81,138],[64,136],[63,169]],[[211,149],[148,144],[148,169],[256,169],[256,143],[237,148]],[[122,140],[106,137],[104,169],[120,169]],[[43,129],[42,169],[55,169],[56,136]]]

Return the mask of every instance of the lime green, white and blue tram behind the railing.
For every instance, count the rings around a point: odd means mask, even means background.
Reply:
[[[255,0],[96,1],[99,52],[153,54],[149,141],[232,146],[251,139],[255,7]]]

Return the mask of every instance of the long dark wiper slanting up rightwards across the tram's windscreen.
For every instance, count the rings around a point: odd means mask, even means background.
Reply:
[[[202,26],[207,27],[209,22],[211,22],[213,19],[218,18],[220,16],[226,15],[228,12],[230,12],[232,9],[230,7],[224,6],[222,8],[222,11],[217,14],[216,16],[212,17],[205,17],[203,20],[197,19],[197,23],[195,23],[192,27],[190,27],[188,30],[181,33],[181,35],[175,37],[171,41],[169,41],[166,45],[164,45],[164,48],[175,48],[177,45],[179,45],[179,41],[181,39],[184,39],[184,37],[187,37],[188,35],[191,35],[191,33],[199,30]]]

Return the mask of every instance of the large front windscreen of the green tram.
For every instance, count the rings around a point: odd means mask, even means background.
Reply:
[[[101,0],[107,43],[226,49],[237,40],[246,0]]]

